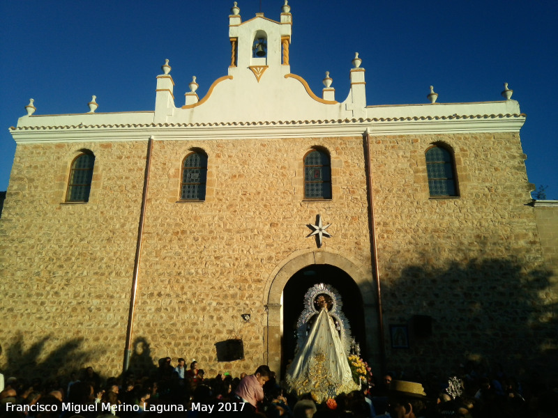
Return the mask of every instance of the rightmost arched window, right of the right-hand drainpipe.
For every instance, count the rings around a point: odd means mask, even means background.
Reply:
[[[433,146],[426,151],[425,157],[430,196],[458,196],[451,153],[441,146]]]

